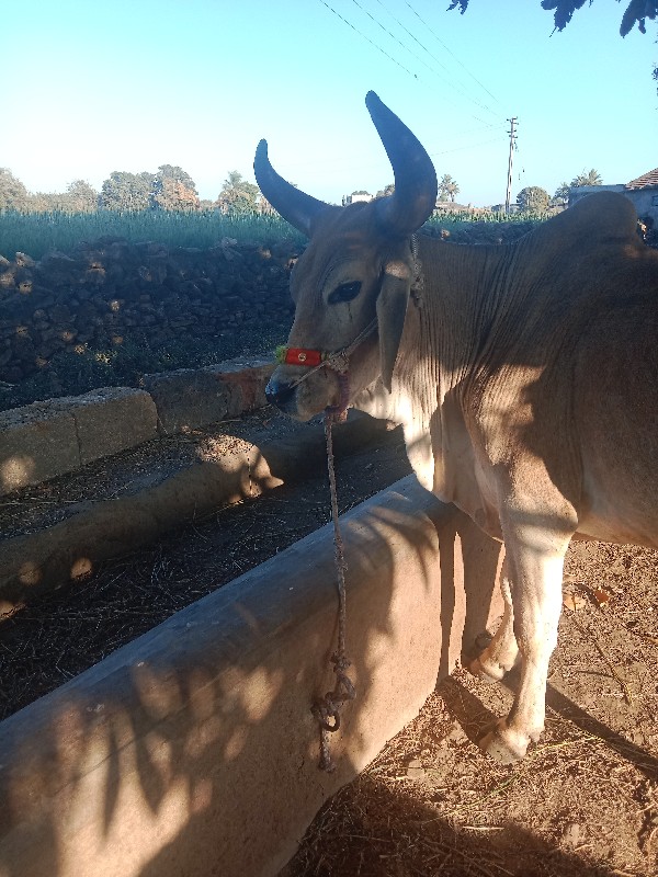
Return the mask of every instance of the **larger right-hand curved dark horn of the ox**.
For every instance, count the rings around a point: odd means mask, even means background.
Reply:
[[[393,167],[395,192],[377,202],[383,221],[394,231],[411,235],[431,216],[436,204],[436,171],[418,138],[368,91],[365,105]]]

